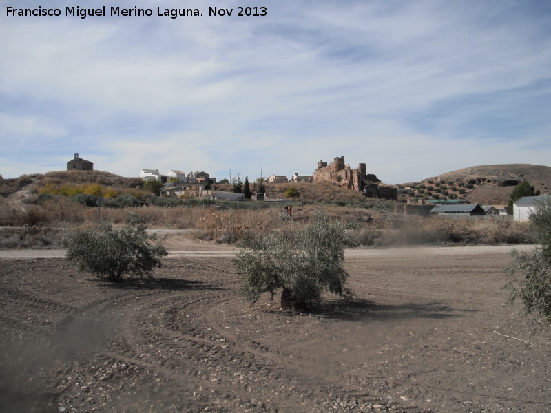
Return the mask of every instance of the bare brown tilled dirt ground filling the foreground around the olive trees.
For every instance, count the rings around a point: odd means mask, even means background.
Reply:
[[[0,411],[551,411],[551,328],[507,304],[508,253],[350,253],[353,297],[297,315],[205,247],[118,285],[0,258]]]

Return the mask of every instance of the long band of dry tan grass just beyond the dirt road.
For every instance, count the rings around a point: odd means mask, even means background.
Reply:
[[[300,183],[308,187],[308,183]],[[281,184],[284,190],[284,184]],[[371,200],[373,202],[373,200]],[[289,202],[289,204],[291,204]],[[532,242],[528,222],[444,220],[417,216],[395,215],[388,211],[367,209],[370,204],[353,203],[353,207],[337,204],[293,202],[293,218],[284,212],[284,203],[240,203],[247,209],[216,209],[215,207],[136,207],[110,209],[84,207],[71,198],[56,197],[43,202],[42,206],[25,205],[25,210],[14,207],[5,198],[0,198],[0,226],[14,227],[67,227],[85,223],[92,224],[100,216],[114,224],[122,224],[130,212],[136,212],[149,226],[198,229],[198,236],[215,242],[233,243],[267,233],[280,233],[292,237],[298,226],[308,222],[315,211],[322,209],[327,215],[342,222],[349,237],[362,246],[407,246],[443,244],[522,244]],[[258,204],[260,205],[260,203]],[[384,209],[385,204],[373,204]],[[39,231],[40,232],[40,231]],[[37,235],[37,234],[34,234]],[[18,235],[19,236],[19,235]],[[33,235],[30,235],[33,236]],[[28,240],[29,237],[24,237]],[[22,241],[22,240],[19,240]],[[14,241],[14,235],[3,238],[3,247]],[[32,242],[30,243],[32,244]],[[44,244],[60,244],[44,240]]]

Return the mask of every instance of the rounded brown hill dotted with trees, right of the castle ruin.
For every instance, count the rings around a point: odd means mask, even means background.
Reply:
[[[551,167],[543,165],[480,165],[442,173],[439,176],[427,178],[422,183],[442,180],[472,182],[472,188],[459,198],[465,198],[477,204],[506,204],[513,187],[522,180],[528,180],[542,195],[551,193]]]

